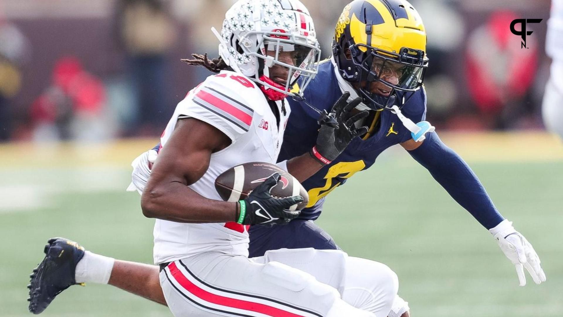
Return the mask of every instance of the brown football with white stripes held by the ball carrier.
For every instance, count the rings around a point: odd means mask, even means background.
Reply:
[[[245,199],[254,188],[264,182],[272,174],[282,175],[278,184],[270,193],[276,198],[291,196],[303,197],[301,204],[291,206],[291,210],[301,210],[309,202],[309,195],[301,183],[291,174],[278,166],[264,162],[250,162],[226,170],[215,180],[215,189],[225,201]]]

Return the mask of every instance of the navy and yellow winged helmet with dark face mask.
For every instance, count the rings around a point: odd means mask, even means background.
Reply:
[[[426,31],[404,0],[355,0],[338,19],[333,55],[339,74],[372,109],[399,106],[420,89],[428,65]],[[373,83],[376,85],[374,90]],[[390,98],[396,96],[396,98]]]

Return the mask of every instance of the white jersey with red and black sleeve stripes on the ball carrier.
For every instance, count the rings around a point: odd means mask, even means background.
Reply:
[[[178,118],[196,118],[221,130],[231,139],[231,145],[213,153],[203,177],[189,186],[208,199],[221,200],[215,190],[215,179],[221,173],[247,162],[275,164],[290,112],[284,102],[276,102],[278,127],[266,97],[254,82],[229,71],[209,76],[178,103],[160,139],[160,151],[166,151]],[[237,223],[191,224],[157,219],[154,262],[171,262],[212,250],[248,256],[248,243],[248,226]]]

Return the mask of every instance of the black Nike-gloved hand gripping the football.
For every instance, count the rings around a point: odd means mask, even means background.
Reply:
[[[240,224],[286,224],[296,218],[301,212],[289,210],[291,206],[303,201],[301,196],[284,199],[272,197],[270,190],[278,184],[279,173],[274,173],[246,197],[239,201]]]

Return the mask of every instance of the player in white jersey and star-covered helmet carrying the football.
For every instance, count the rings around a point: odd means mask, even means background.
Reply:
[[[177,105],[142,188],[142,211],[157,219],[154,261],[170,310],[176,317],[387,316],[398,286],[381,263],[314,249],[248,258],[248,225],[284,224],[299,214],[289,208],[301,197],[270,195],[279,174],[238,202],[221,201],[215,190],[215,179],[233,166],[275,163],[290,112],[283,99],[298,76],[307,77],[305,89],[316,72],[319,49],[309,12],[298,0],[240,0],[218,38],[223,64],[207,58],[203,64],[223,70]],[[348,103],[348,96],[330,113],[337,126],[321,127],[316,157],[306,153],[279,165],[306,179],[323,166],[319,160],[336,158],[366,133],[355,122],[367,112],[351,115],[360,100]],[[258,127],[261,121],[271,129]],[[29,285],[35,314],[70,285],[108,283],[115,270],[113,259],[66,239],[50,240],[45,252]]]

